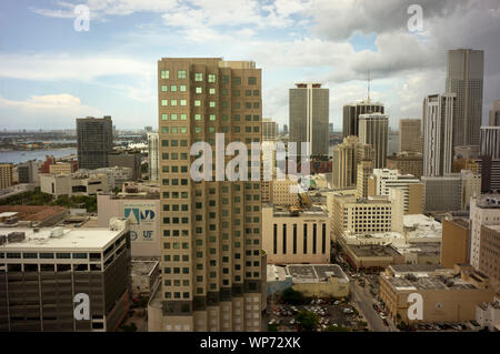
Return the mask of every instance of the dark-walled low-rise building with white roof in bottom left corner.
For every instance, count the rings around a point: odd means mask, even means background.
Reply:
[[[129,292],[126,220],[99,229],[0,227],[0,331],[116,331]],[[77,307],[86,301],[88,315]]]

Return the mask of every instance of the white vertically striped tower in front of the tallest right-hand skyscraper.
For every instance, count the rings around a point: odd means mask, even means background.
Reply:
[[[452,171],[456,99],[454,93],[442,93],[423,100],[423,175]]]

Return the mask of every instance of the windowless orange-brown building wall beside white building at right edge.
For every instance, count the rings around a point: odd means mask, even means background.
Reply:
[[[442,221],[441,264],[453,267],[469,263],[469,219],[447,218]]]

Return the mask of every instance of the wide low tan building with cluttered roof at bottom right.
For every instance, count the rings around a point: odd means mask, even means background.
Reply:
[[[476,307],[483,302],[491,302],[494,296],[488,277],[470,266],[449,270],[429,264],[399,264],[388,266],[381,274],[379,296],[394,322],[418,321],[408,317],[408,297],[412,293],[422,296],[420,321],[423,322],[474,320]]]

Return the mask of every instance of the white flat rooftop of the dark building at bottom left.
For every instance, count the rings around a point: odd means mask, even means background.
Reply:
[[[40,251],[67,251],[72,249],[82,249],[89,251],[102,251],[112,243],[123,230],[109,230],[108,227],[47,227],[40,229],[28,227],[0,227],[0,235],[8,235],[12,232],[24,233],[24,241],[7,242],[1,247],[9,252],[22,250],[40,250]],[[60,236],[51,236],[51,232],[61,230]]]

